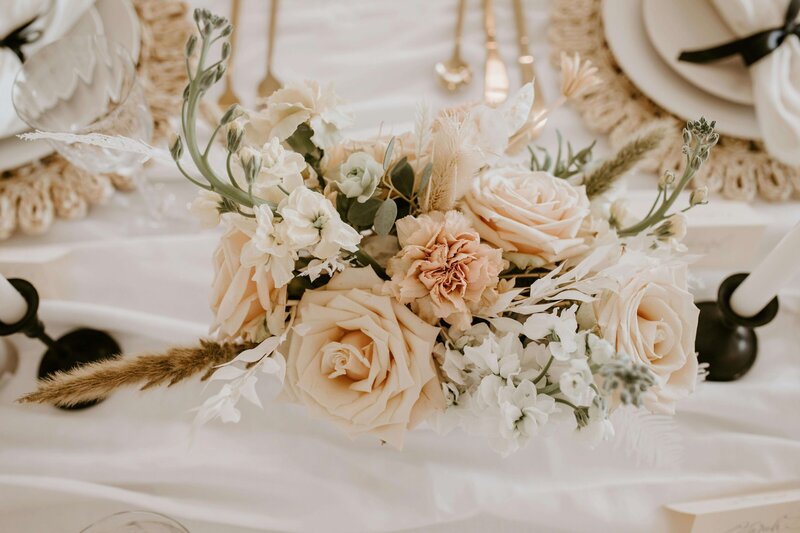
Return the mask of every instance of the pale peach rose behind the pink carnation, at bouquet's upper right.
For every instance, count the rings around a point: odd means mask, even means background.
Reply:
[[[481,174],[462,208],[481,239],[502,248],[514,263],[542,266],[581,253],[579,235],[589,215],[581,187],[547,172],[507,167]]]

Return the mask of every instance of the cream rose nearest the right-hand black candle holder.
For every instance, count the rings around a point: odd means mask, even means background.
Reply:
[[[653,412],[674,413],[675,402],[697,381],[699,311],[686,290],[686,276],[686,265],[655,266],[594,302],[602,336],[656,375],[657,384],[644,398]]]

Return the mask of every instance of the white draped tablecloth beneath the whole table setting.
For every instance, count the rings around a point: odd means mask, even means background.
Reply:
[[[226,9],[220,0],[196,3]],[[243,6],[236,81],[251,101],[262,76],[267,5]],[[526,2],[537,69],[554,98],[548,7],[548,0]],[[510,2],[498,1],[496,10],[516,83]],[[421,98],[441,107],[480,97],[480,76],[453,97],[432,75],[433,63],[450,54],[453,13],[454,2],[443,0],[282,2],[276,72],[281,79],[334,80],[354,102],[356,129],[382,123],[383,131],[399,132]],[[476,74],[482,39],[479,2],[468,2],[464,55]],[[568,109],[552,126],[545,144],[555,128],[576,145],[592,138]],[[601,141],[598,154],[607,152]],[[193,193],[169,167],[150,175],[181,202]],[[633,186],[653,179],[641,176]],[[71,302],[207,323],[216,235],[131,224],[141,209],[135,195],[118,197],[46,236],[15,237],[0,244],[0,271],[31,277],[47,295]],[[797,221],[798,209],[759,209],[771,220],[768,249]],[[698,274],[712,289],[720,279]],[[399,453],[350,442],[299,407],[271,401],[263,410],[244,406],[238,425],[212,423],[190,440],[189,410],[209,392],[197,382],[125,391],[78,413],[16,405],[14,398],[35,386],[41,350],[14,338],[23,357],[0,389],[0,531],[79,531],[111,512],[142,508],[193,532],[670,531],[664,504],[800,485],[800,299],[782,297],[778,319],[759,331],[753,370],[735,383],[702,384],[680,405],[673,436],[683,451],[666,466],[639,464],[611,444],[587,452],[569,440],[535,442],[504,460],[461,433],[443,438],[427,430],[411,435]],[[55,333],[75,325],[52,322]],[[114,331],[125,350],[164,345],[134,326]]]

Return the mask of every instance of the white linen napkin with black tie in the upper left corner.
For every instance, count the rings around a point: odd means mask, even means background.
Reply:
[[[0,37],[5,37],[34,17],[41,17],[36,28],[42,36],[25,47],[30,56],[42,46],[62,37],[94,0],[3,0],[0,16]],[[20,61],[8,48],[0,48],[0,138],[7,132],[21,129],[24,124],[17,117],[11,102],[11,89],[20,67]]]

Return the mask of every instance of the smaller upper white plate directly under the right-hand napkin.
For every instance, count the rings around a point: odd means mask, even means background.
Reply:
[[[753,105],[750,71],[738,56],[713,63],[678,61],[684,50],[702,50],[736,39],[706,0],[644,0],[650,41],[669,66],[698,88],[742,105]]]

